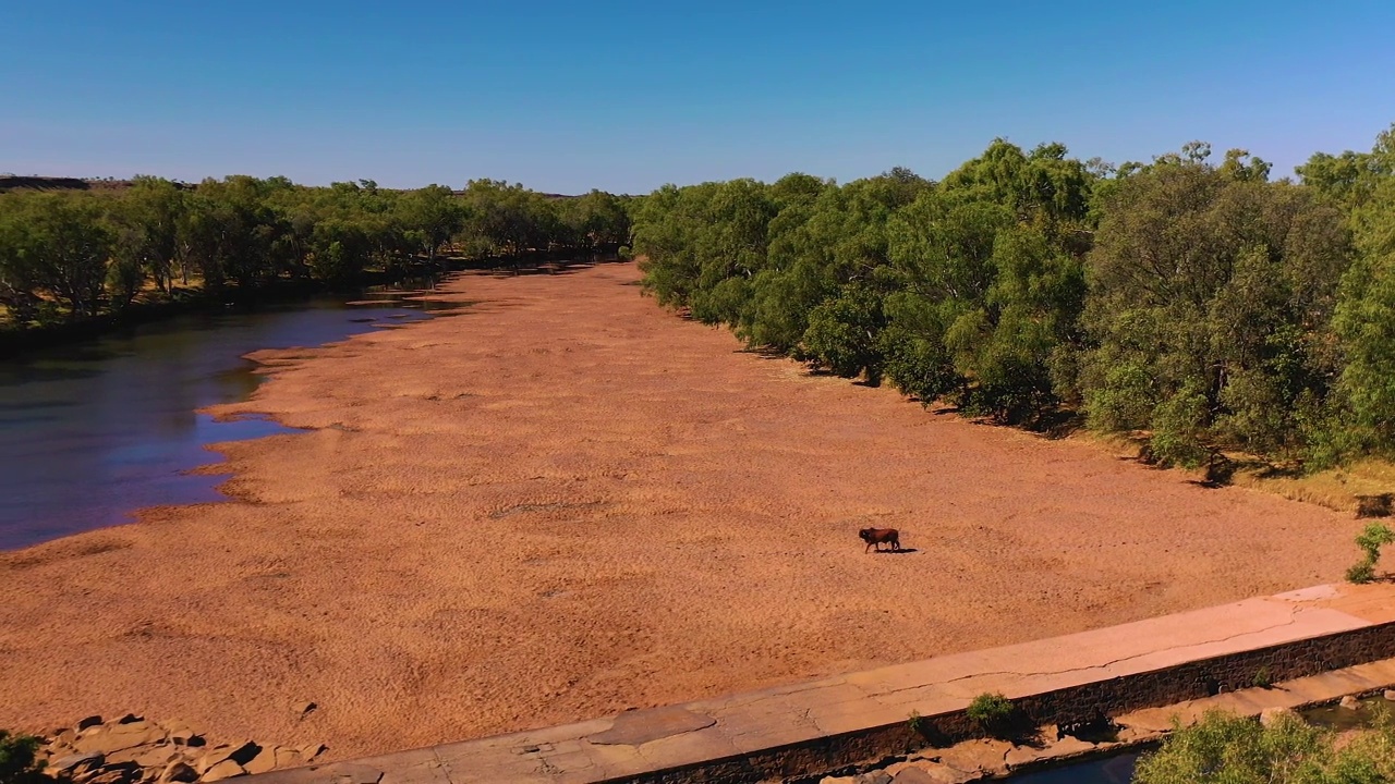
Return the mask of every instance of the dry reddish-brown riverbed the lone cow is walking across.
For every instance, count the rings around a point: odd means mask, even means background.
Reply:
[[[239,499],[0,554],[0,727],[346,757],[1341,578],[1356,523],[813,378],[632,265],[262,357]],[[898,527],[915,552],[864,555]],[[314,700],[303,721],[292,709]]]

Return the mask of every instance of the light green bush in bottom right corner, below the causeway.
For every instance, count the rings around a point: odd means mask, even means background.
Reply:
[[[1377,784],[1395,780],[1388,721],[1336,744],[1328,730],[1281,714],[1269,727],[1225,713],[1179,728],[1138,760],[1137,784]],[[1338,748],[1341,746],[1341,748]]]

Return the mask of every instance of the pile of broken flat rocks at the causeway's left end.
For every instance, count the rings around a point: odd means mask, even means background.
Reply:
[[[74,784],[193,784],[299,767],[325,751],[324,744],[215,745],[183,721],[146,721],[126,714],[116,721],[89,716],[77,727],[56,730],[42,753],[46,773]]]

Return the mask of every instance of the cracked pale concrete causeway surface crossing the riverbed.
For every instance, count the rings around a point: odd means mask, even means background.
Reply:
[[[1318,586],[760,692],[275,771],[257,777],[257,784],[591,784],[646,778],[845,732],[904,725],[912,711],[926,717],[960,711],[983,692],[1024,698],[1389,622],[1395,622],[1395,586]]]

